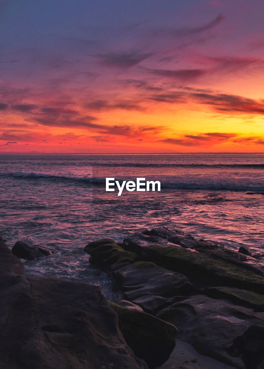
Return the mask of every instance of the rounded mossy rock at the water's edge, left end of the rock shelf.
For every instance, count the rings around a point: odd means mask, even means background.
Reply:
[[[98,241],[97,245],[91,242],[85,247],[84,251],[91,255],[91,263],[114,271],[135,262],[135,255],[132,252],[125,251],[114,241],[107,244],[103,244],[103,241]]]

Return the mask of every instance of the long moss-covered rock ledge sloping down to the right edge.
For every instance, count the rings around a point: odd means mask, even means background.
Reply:
[[[177,246],[149,246],[148,259],[157,265],[183,273],[191,282],[207,286],[237,287],[263,294],[264,277],[234,265],[227,260],[205,253],[192,252]]]

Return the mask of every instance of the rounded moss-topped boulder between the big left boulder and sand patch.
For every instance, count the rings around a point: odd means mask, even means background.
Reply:
[[[176,345],[177,328],[174,325],[113,302],[110,307],[118,314],[119,329],[126,343],[149,369],[157,368],[169,359]]]

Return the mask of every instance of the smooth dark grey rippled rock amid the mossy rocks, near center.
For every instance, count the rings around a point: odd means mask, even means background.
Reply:
[[[172,304],[179,295],[197,293],[187,277],[151,262],[133,263],[114,275],[123,286],[125,298],[150,314]]]

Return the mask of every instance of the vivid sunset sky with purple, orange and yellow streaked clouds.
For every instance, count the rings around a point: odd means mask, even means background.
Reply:
[[[0,153],[264,152],[263,0],[0,0]]]

